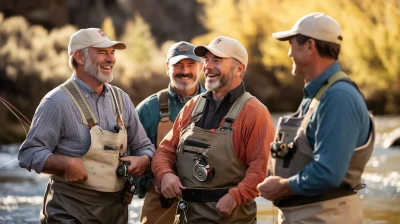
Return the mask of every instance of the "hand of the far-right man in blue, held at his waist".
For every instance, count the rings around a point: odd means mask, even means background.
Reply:
[[[289,185],[289,179],[278,176],[269,176],[257,185],[260,196],[275,201],[294,194]]]

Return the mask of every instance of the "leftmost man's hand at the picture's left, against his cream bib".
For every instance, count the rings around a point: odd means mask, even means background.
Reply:
[[[66,166],[64,169],[65,181],[71,183],[80,183],[87,181],[88,175],[81,158],[66,156]]]

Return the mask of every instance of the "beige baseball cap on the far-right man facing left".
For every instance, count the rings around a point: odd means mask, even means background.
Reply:
[[[341,44],[343,40],[340,24],[321,12],[314,12],[301,17],[292,29],[273,33],[272,37],[283,41],[297,34],[335,44]]]

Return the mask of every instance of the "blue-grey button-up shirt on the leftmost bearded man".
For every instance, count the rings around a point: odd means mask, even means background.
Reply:
[[[117,122],[110,97],[110,85],[106,84],[103,93],[98,96],[96,91],[76,76],[73,75],[71,79],[76,81],[100,127],[114,132]],[[154,146],[146,136],[132,101],[122,90],[121,98],[130,155],[146,154],[152,158]],[[83,156],[91,144],[89,131],[89,126],[82,123],[74,101],[64,89],[56,87],[46,94],[36,109],[31,129],[18,153],[20,167],[40,173],[52,154]]]

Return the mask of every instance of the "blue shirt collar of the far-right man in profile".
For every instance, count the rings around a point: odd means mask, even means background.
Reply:
[[[304,86],[304,98],[313,98],[317,94],[318,90],[325,85],[330,77],[332,77],[336,72],[340,71],[340,65],[336,61],[330,65],[324,72],[321,73],[311,82]]]

